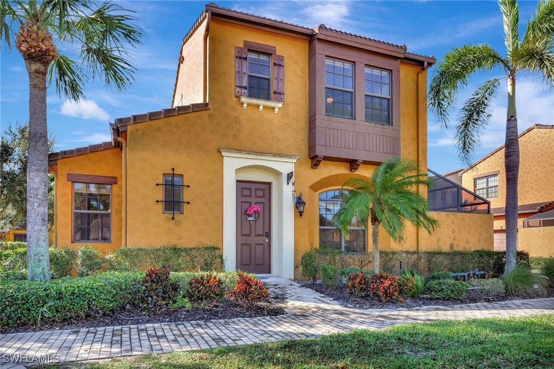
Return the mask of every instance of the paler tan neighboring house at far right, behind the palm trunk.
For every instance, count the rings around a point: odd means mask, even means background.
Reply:
[[[519,135],[518,248],[554,255],[554,125],[535,124]],[[494,248],[506,249],[504,145],[460,172],[462,184],[487,198],[494,214]]]

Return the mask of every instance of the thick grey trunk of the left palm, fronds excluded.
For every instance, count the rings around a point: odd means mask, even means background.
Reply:
[[[48,255],[48,64],[25,59],[29,73],[29,159],[27,164],[27,268],[29,280],[50,280]]]

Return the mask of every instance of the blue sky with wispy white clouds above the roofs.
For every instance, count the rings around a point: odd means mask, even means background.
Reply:
[[[114,93],[100,83],[88,84],[86,100],[80,106],[59,99],[54,88],[48,92],[48,126],[56,137],[57,150],[109,141],[108,122],[121,116],[160,110],[171,106],[173,84],[181,40],[206,2],[133,1],[120,2],[143,19],[146,36],[134,51],[138,69],[136,81],[124,93]],[[352,1],[352,2],[216,2],[219,6],[261,16],[315,27],[325,24],[396,44],[406,44],[409,52],[434,55],[440,59],[452,47],[466,43],[489,43],[504,54],[502,18],[495,1]],[[522,34],[535,12],[535,1],[520,2]],[[433,68],[431,69],[431,71]],[[0,124],[28,120],[28,77],[17,51],[2,51],[0,67]],[[490,76],[500,76],[490,73]],[[486,75],[479,75],[464,91],[473,91]],[[554,94],[541,79],[520,75],[517,79],[519,129],[535,123],[554,124]],[[481,136],[478,159],[504,142],[506,95],[499,91],[493,117]],[[453,116],[453,120],[455,115]],[[445,172],[463,167],[455,151],[454,131],[442,130],[429,116],[428,165]]]

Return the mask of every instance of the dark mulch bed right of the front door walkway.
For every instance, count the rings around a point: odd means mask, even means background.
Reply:
[[[495,301],[509,301],[509,300],[525,300],[530,299],[522,296],[501,296],[496,298],[472,298],[468,297],[463,300],[435,300],[435,299],[422,299],[422,298],[404,298],[404,303],[399,304],[395,302],[383,303],[380,299],[373,296],[363,296],[360,299],[355,298],[351,293],[346,290],[344,284],[340,284],[330,291],[327,286],[322,284],[312,285],[305,283],[302,286],[312,289],[317,293],[328,296],[333,300],[339,301],[346,306],[356,307],[357,309],[406,309],[410,307],[422,307],[422,306],[450,306],[461,304],[474,304],[474,303],[493,303]],[[554,289],[549,289],[546,296],[542,298],[554,298]]]

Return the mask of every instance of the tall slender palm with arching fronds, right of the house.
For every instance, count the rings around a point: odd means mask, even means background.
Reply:
[[[517,177],[519,143],[517,141],[516,75],[540,74],[546,85],[554,86],[554,1],[538,3],[535,18],[519,38],[519,9],[516,0],[500,0],[504,19],[506,56],[487,44],[453,48],[437,64],[429,86],[428,104],[443,127],[448,127],[456,97],[476,73],[495,71],[497,78],[485,81],[465,101],[456,119],[456,147],[461,160],[471,163],[471,153],[479,146],[479,135],[489,123],[500,81],[506,79],[507,112],[504,166],[506,170],[506,266],[516,263]]]

